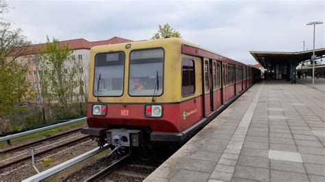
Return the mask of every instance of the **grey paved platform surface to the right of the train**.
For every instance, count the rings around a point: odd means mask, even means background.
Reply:
[[[256,83],[145,181],[325,181],[324,92]]]

